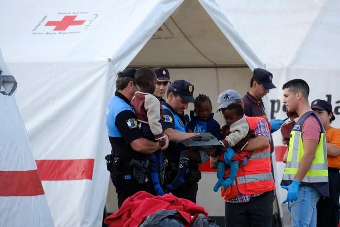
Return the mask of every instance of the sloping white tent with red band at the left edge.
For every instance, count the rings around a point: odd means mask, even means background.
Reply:
[[[0,50],[2,74],[9,75]],[[11,76],[12,81],[14,77]],[[9,84],[8,84],[9,85]],[[12,91],[12,86],[9,91]],[[0,94],[1,226],[53,227],[51,213],[14,95]]]

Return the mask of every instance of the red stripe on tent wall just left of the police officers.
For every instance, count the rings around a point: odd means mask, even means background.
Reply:
[[[92,180],[95,159],[35,160],[41,181]]]

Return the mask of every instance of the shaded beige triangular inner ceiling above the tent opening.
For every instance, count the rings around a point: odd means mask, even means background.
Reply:
[[[232,32],[230,32],[232,33]],[[246,67],[197,0],[183,1],[129,67]]]

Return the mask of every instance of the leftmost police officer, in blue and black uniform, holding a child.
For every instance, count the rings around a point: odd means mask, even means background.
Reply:
[[[147,176],[145,154],[160,150],[159,143],[142,138],[131,99],[139,89],[135,83],[135,69],[125,69],[116,79],[116,92],[106,108],[106,126],[112,146],[113,168],[111,180],[118,194],[118,207],[137,191],[154,193]],[[166,136],[167,148],[169,139]]]

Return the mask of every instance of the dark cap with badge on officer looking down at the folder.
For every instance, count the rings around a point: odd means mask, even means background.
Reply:
[[[194,85],[184,79],[174,80],[169,85],[168,89],[169,91],[177,92],[184,102],[193,103],[195,101],[193,96],[195,89]]]

